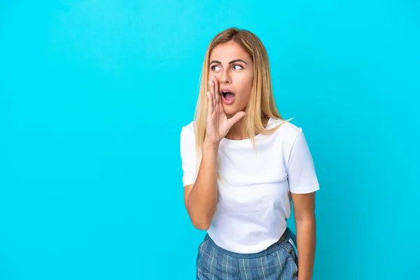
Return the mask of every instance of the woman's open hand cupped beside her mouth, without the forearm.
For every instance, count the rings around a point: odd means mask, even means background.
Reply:
[[[218,144],[228,134],[230,127],[245,116],[245,112],[239,111],[232,118],[226,116],[225,110],[223,109],[221,93],[219,92],[218,80],[214,76],[211,76],[209,80],[207,98],[209,106],[204,141],[208,141],[210,144]]]

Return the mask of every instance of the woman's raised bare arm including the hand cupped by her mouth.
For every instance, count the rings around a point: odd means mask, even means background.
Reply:
[[[245,112],[238,112],[228,119],[223,110],[216,77],[209,80],[209,89],[210,91],[207,92],[208,111],[206,135],[202,146],[202,161],[195,183],[184,187],[184,201],[188,215],[195,228],[200,230],[207,230],[210,227],[216,211],[218,197],[217,161],[220,141],[228,134],[230,127],[245,116]]]

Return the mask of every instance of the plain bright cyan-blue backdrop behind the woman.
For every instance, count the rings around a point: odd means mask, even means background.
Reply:
[[[420,279],[419,1],[3,0],[1,280],[195,279],[179,136],[228,27],[314,157],[314,279]]]

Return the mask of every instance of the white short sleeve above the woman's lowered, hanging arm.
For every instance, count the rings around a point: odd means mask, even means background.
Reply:
[[[314,161],[302,128],[299,128],[290,150],[287,173],[290,193],[304,194],[319,190]]]

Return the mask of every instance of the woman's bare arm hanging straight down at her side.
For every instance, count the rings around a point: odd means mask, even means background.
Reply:
[[[315,193],[291,193],[296,223],[299,280],[311,280],[316,248]]]

